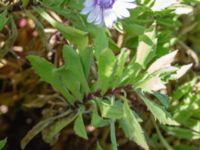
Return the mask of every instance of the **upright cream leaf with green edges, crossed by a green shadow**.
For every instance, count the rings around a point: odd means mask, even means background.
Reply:
[[[139,45],[136,53],[136,63],[146,68],[155,56],[157,45],[155,23],[139,36]]]

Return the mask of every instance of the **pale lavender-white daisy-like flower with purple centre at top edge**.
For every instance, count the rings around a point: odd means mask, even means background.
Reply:
[[[89,14],[89,23],[111,28],[118,18],[129,17],[128,9],[135,7],[135,0],[85,0],[81,13]]]

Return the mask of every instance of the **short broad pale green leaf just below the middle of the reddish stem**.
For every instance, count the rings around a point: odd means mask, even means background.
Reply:
[[[121,102],[116,101],[113,105],[108,101],[98,101],[102,117],[109,119],[120,119],[123,117],[123,105]]]

